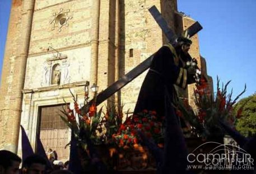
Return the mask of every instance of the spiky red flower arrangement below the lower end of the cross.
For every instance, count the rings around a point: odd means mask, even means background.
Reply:
[[[112,135],[117,133],[119,126],[122,125],[123,107],[121,107],[120,111],[115,106],[108,107],[104,113],[102,108],[97,111],[96,101],[89,105],[89,92],[85,92],[83,107],[78,105],[72,92],[71,95],[73,96],[74,109],[71,110],[65,101],[66,109],[63,108],[62,113],[66,117],[61,115],[60,117],[72,130],[72,133],[75,134],[78,143],[82,147],[86,147],[86,140],[80,135],[81,131],[84,131],[95,145],[113,144]]]

